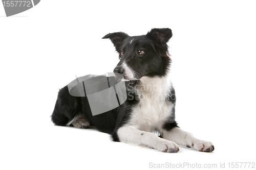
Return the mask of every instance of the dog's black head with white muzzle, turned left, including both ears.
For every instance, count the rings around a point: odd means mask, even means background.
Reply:
[[[120,62],[114,69],[116,77],[123,80],[140,79],[143,76],[165,76],[170,58],[168,40],[172,30],[152,29],[146,35],[129,36],[123,32],[110,33],[109,38],[119,53]]]

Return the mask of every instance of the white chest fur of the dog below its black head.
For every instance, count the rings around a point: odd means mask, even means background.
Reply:
[[[166,100],[172,82],[168,77],[142,77],[136,87],[139,104],[131,113],[129,124],[152,132],[159,129],[172,113],[173,104]]]

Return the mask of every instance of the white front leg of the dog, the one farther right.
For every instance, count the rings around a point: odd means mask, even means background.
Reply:
[[[214,151],[214,145],[211,142],[197,139],[191,133],[185,132],[178,127],[173,128],[170,131],[163,130],[162,137],[164,139],[174,141],[177,144],[184,145],[188,148],[193,148],[197,151]]]

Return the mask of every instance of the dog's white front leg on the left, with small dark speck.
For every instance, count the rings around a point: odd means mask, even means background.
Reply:
[[[179,146],[173,142],[156,136],[151,132],[139,130],[138,127],[127,125],[118,129],[118,138],[121,142],[154,148],[162,152],[175,153]]]

